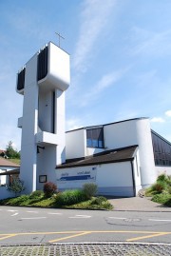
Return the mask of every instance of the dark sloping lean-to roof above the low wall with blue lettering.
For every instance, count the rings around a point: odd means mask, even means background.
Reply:
[[[85,167],[92,165],[131,161],[134,159],[137,148],[138,145],[134,145],[126,148],[106,150],[104,152],[79,159],[69,159],[66,160],[66,163],[59,165],[56,168]]]

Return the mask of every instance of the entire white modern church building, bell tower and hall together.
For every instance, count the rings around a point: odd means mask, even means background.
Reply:
[[[95,183],[98,193],[136,196],[171,174],[171,144],[151,130],[148,118],[65,130],[69,55],[48,43],[17,75],[24,96],[20,178],[27,190],[53,182],[59,190]]]

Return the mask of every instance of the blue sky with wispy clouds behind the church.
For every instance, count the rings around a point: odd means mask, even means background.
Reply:
[[[0,0],[0,148],[20,149],[16,73],[47,42],[70,54],[66,130],[135,117],[171,141],[170,0]]]

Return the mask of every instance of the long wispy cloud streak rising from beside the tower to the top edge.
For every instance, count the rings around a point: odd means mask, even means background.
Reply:
[[[85,0],[81,14],[80,35],[73,58],[74,69],[79,71],[86,69],[90,51],[104,29],[115,4],[115,0]]]

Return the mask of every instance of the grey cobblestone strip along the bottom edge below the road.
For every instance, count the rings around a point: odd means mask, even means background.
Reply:
[[[0,246],[1,256],[169,256],[171,245],[128,243]]]

